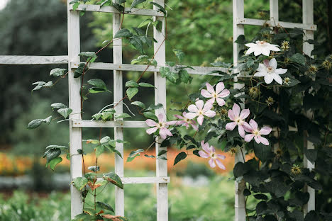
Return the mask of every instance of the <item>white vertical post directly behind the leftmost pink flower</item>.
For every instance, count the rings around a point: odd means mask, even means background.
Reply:
[[[164,0],[154,0],[155,3],[165,6]],[[153,7],[155,10],[156,6]],[[155,60],[160,66],[165,65],[165,17],[155,17],[155,19],[162,22],[162,31],[158,31],[153,28],[153,35],[155,40]],[[163,108],[155,111],[158,115],[162,113],[166,117],[166,79],[160,76],[159,72],[155,72],[155,104],[161,103]],[[162,139],[157,137],[155,144],[156,156],[158,153],[167,147],[160,147]],[[166,157],[166,154],[162,155]],[[157,159],[156,160],[156,176],[167,176],[167,160]],[[168,193],[167,193],[167,183],[157,183],[157,221],[167,221],[168,220]]]

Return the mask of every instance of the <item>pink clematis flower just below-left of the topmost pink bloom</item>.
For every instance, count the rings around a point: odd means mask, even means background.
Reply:
[[[203,120],[204,120],[204,115],[206,117],[209,118],[213,118],[216,115],[216,112],[211,111],[212,103],[206,102],[204,105],[204,102],[201,100],[196,101],[194,104],[189,105],[188,107],[188,111],[190,111],[189,113],[187,113],[186,117],[188,119],[194,119],[196,117],[197,118],[197,122],[199,123],[199,125],[202,125]]]

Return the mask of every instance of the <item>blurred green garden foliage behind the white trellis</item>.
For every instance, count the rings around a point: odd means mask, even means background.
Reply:
[[[4,1],[4,0],[0,0]],[[231,0],[169,0],[167,2],[167,61],[174,61],[172,49],[181,49],[187,56],[184,63],[189,65],[211,66],[219,60],[232,62],[233,30]],[[301,23],[301,0],[280,0],[280,21]],[[131,2],[130,2],[131,3]],[[129,4],[128,3],[128,6]],[[318,26],[315,38],[321,45],[316,45],[321,56],[332,51],[332,5],[329,0],[314,1],[314,21]],[[264,0],[245,0],[245,17],[269,18],[269,4]],[[123,27],[131,28],[148,17],[125,16]],[[111,14],[85,13],[81,18],[81,50],[99,50],[104,40],[112,35]],[[247,39],[259,27],[246,26]],[[150,51],[148,51],[150,52]],[[11,0],[0,11],[0,55],[67,55],[67,11],[66,4],[60,0]],[[133,48],[123,47],[123,62],[130,63],[138,53]],[[99,62],[112,62],[111,48],[99,55]],[[67,220],[70,197],[67,187],[65,193],[50,191],[52,172],[40,166],[40,156],[48,145],[68,145],[68,123],[51,123],[36,130],[26,130],[26,125],[36,118],[56,117],[50,108],[51,103],[67,104],[67,80],[63,79],[52,89],[42,89],[31,93],[35,81],[49,81],[52,68],[66,65],[9,66],[0,65],[0,153],[6,157],[28,156],[33,159],[31,169],[25,171],[33,177],[33,183],[26,188],[26,193],[16,191],[12,195],[12,186],[0,196],[0,220]],[[137,79],[138,72],[124,72],[123,82]],[[104,79],[112,91],[113,72],[90,71],[88,79]],[[143,77],[145,82],[153,83],[153,74]],[[194,93],[208,77],[194,77],[189,86],[167,85],[167,106],[177,108],[179,103],[187,102],[187,94]],[[140,101],[153,103],[151,89],[140,91]],[[84,103],[84,118],[90,119],[94,113],[113,102],[113,94],[98,94],[89,97]],[[177,102],[177,103],[174,103]],[[126,108],[125,108],[126,110]],[[135,119],[136,120],[136,119]],[[137,120],[143,120],[140,116]],[[98,130],[84,130],[84,139],[96,139]],[[152,137],[144,130],[126,130],[125,137],[131,142],[126,148],[148,147]],[[113,136],[112,130],[104,130],[103,135]],[[0,181],[4,180],[6,169],[0,164]],[[207,171],[206,171],[207,170]],[[64,170],[62,172],[67,172]],[[135,176],[145,175],[148,171],[129,171]],[[220,176],[205,169],[187,166],[187,174],[197,179],[200,174],[208,181],[203,186],[185,186],[185,182],[170,185],[170,220],[231,220],[233,217],[233,181],[228,181],[233,174]],[[11,174],[16,176],[17,174]],[[181,175],[181,174],[178,174]],[[183,175],[183,174],[182,174]],[[8,174],[7,174],[8,176]],[[209,184],[208,184],[209,183]],[[9,185],[10,186],[10,185]],[[113,188],[109,188],[109,202],[113,202]],[[35,193],[37,191],[37,193]],[[128,186],[128,217],[145,217],[155,220],[155,198],[153,186]],[[38,195],[38,192],[46,195]],[[179,193],[182,193],[179,194]],[[321,194],[321,193],[320,193]],[[179,197],[180,196],[180,197]],[[319,196],[318,196],[319,197]],[[41,199],[41,200],[39,200]],[[136,200],[142,203],[136,205]],[[204,203],[203,200],[204,199]],[[18,203],[19,202],[19,203]],[[63,203],[60,203],[63,202]],[[111,203],[113,205],[113,203]],[[187,205],[183,207],[182,205]],[[319,204],[318,204],[319,206]],[[148,213],[147,213],[148,212]],[[24,214],[24,215],[22,215]],[[48,214],[48,215],[47,215]],[[50,214],[52,216],[50,216]],[[24,218],[23,218],[24,217]]]

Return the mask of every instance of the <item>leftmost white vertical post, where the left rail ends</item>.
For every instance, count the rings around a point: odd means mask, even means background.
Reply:
[[[79,12],[70,11],[70,1],[67,0],[67,25],[68,25],[68,85],[69,107],[72,113],[81,112],[81,78],[74,78],[74,69],[71,62],[79,62]],[[81,120],[80,114],[70,115],[70,120]],[[82,155],[77,152],[82,149],[82,128],[72,128],[70,125],[70,176],[71,180],[82,177]],[[71,217],[72,219],[83,212],[82,193],[70,185]]]

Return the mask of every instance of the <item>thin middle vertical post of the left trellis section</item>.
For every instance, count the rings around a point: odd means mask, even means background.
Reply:
[[[122,15],[113,14],[113,36],[116,35],[121,28]],[[122,64],[122,40],[114,40],[113,47],[113,62],[114,64]],[[114,103],[121,101],[123,98],[123,85],[122,85],[122,72],[114,71]],[[123,113],[123,102],[121,101],[115,107],[116,113]],[[118,119],[120,120],[120,119]],[[114,128],[114,140],[123,140],[123,128]],[[123,157],[123,144],[116,142],[116,150],[121,153]],[[115,173],[123,177],[123,158],[115,154]],[[116,215],[124,216],[124,192],[123,189],[115,187],[115,200],[116,200]]]

